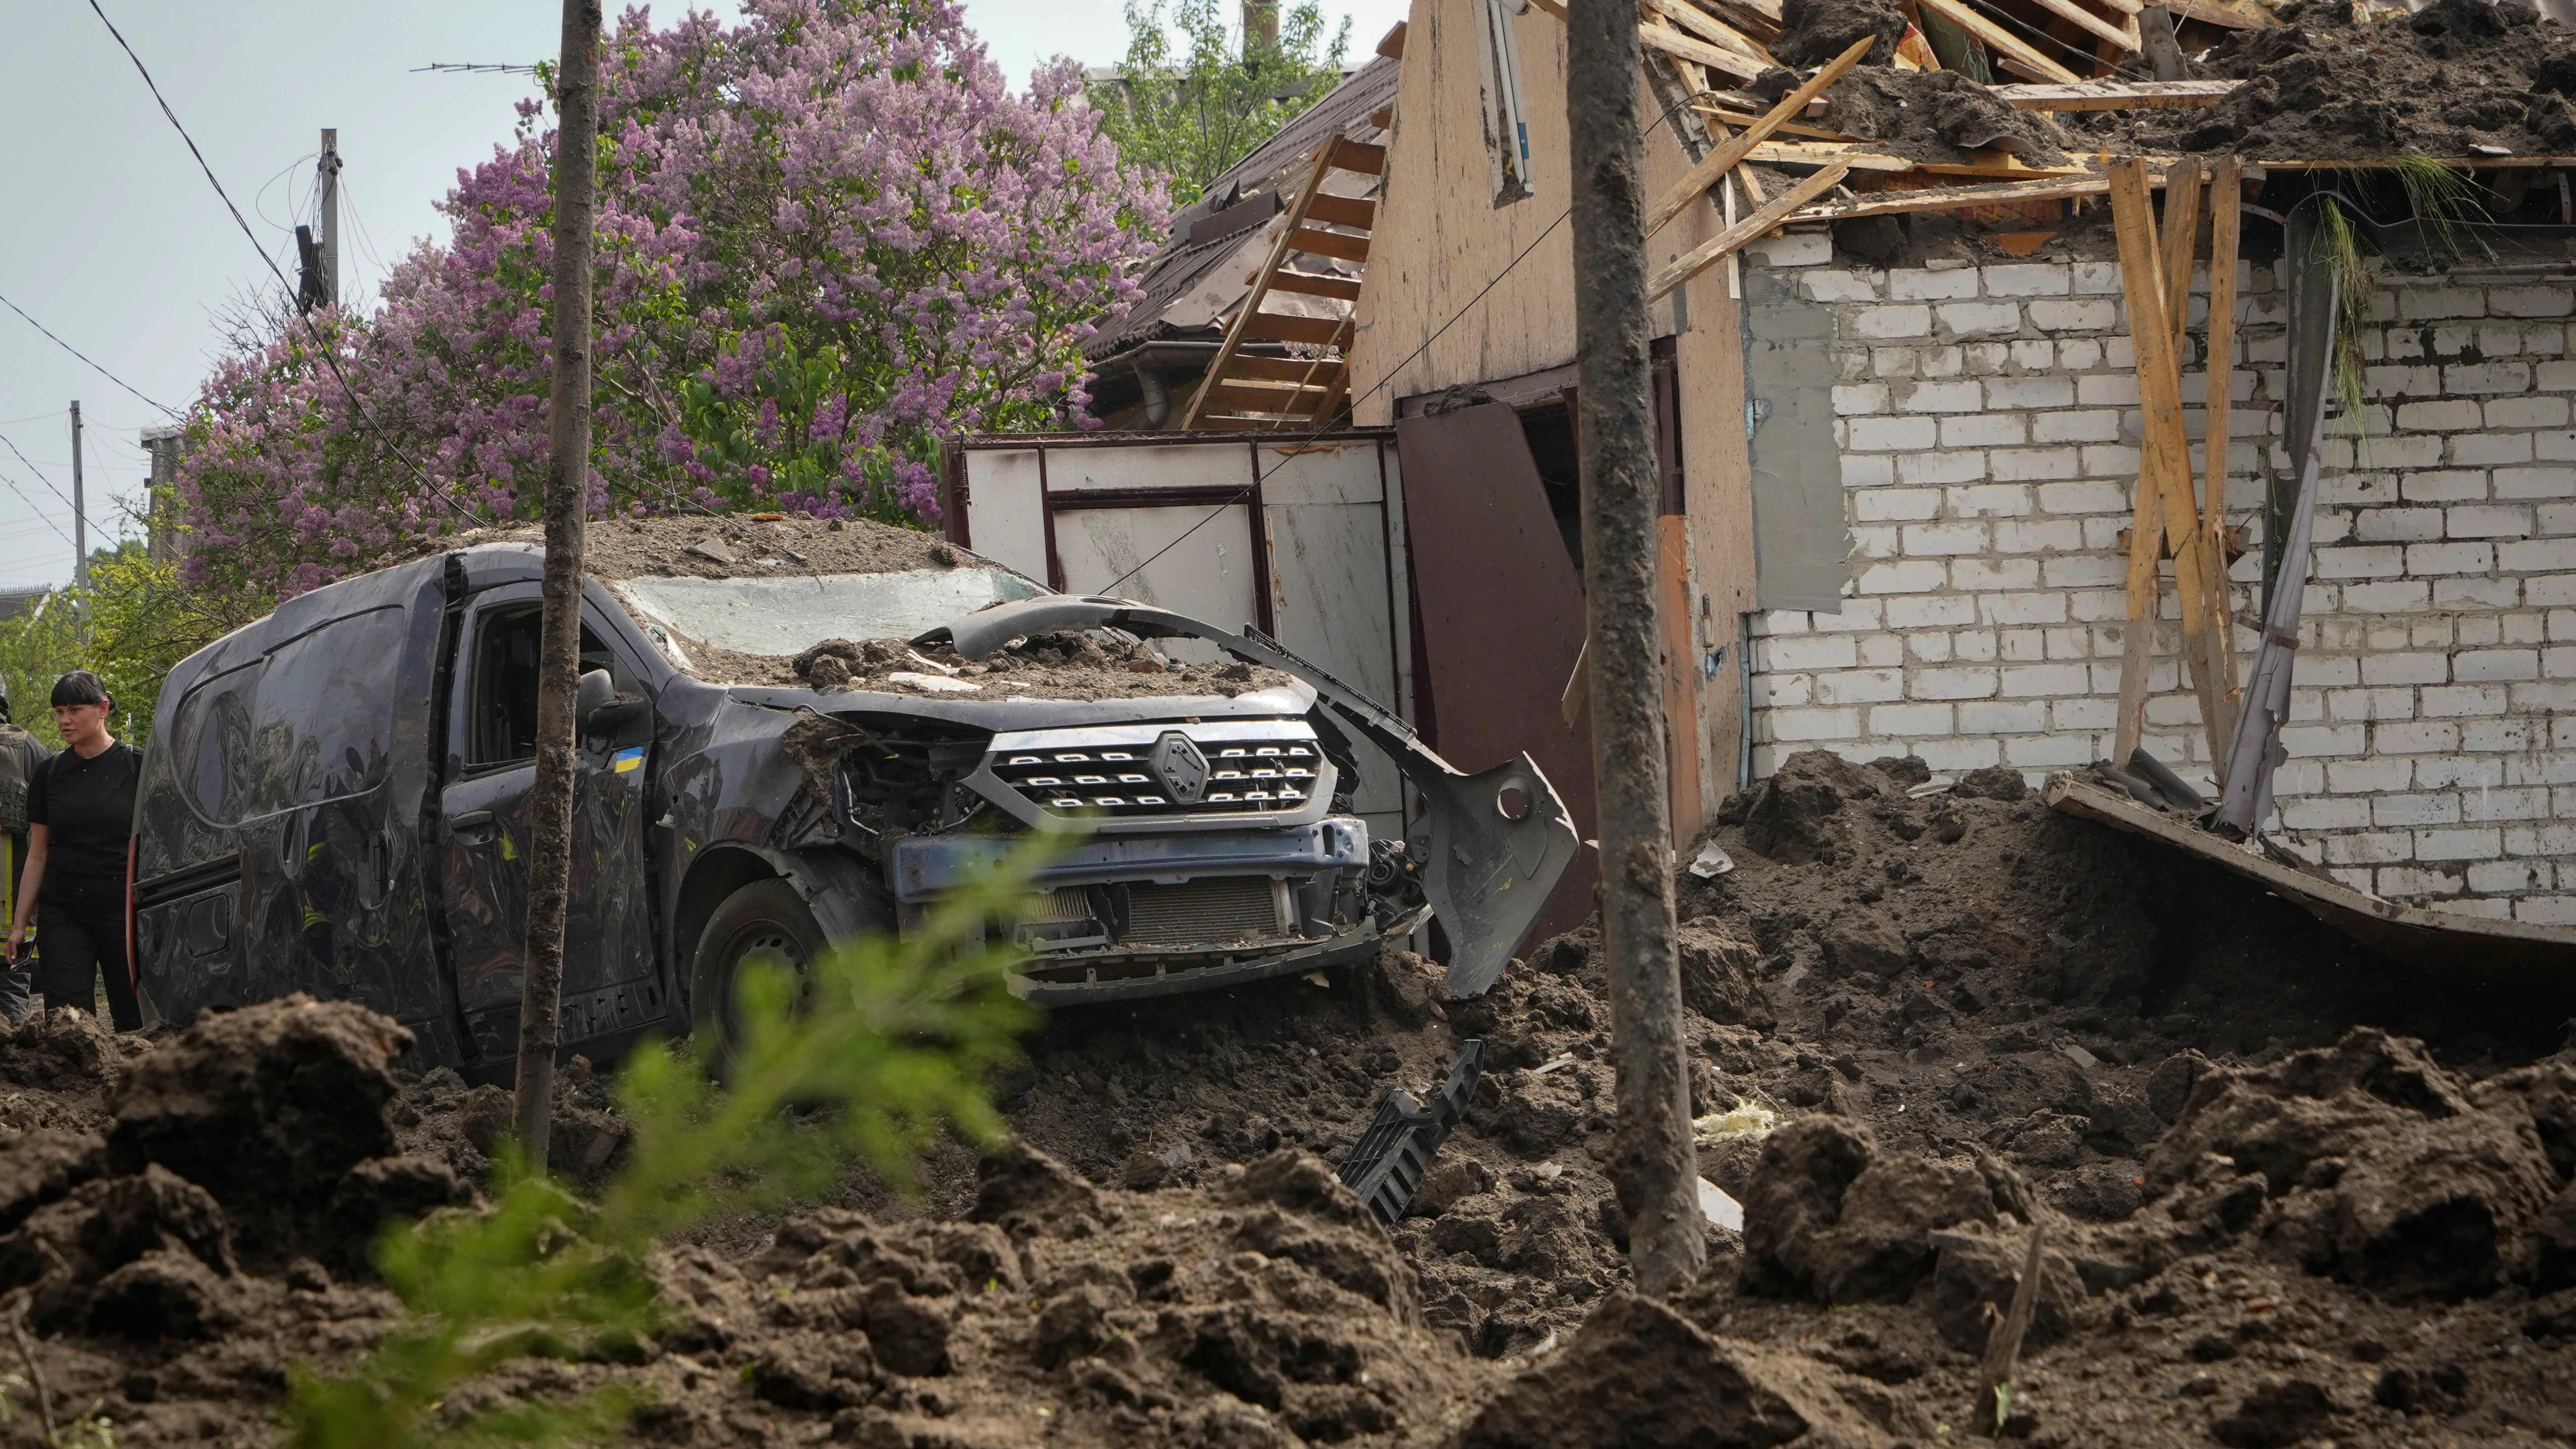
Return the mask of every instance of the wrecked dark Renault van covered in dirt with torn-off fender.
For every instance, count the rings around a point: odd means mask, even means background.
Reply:
[[[1579,849],[1528,757],[1458,772],[1252,628],[829,528],[670,561],[592,528],[564,1050],[721,1024],[747,960],[902,932],[1028,831],[1074,831],[1015,927],[1012,991],[1046,1006],[1355,963],[1432,919],[1471,996]],[[134,865],[160,1017],[309,991],[507,1076],[541,569],[528,535],[448,540],[170,672]],[[1404,839],[1352,808],[1355,739],[1404,775]]]

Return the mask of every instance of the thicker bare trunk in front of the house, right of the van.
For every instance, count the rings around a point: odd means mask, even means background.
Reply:
[[[1628,5],[1566,10],[1592,780],[1618,1068],[1610,1181],[1628,1212],[1636,1287],[1664,1297],[1700,1271],[1708,1248],[1672,929],[1638,39]]]

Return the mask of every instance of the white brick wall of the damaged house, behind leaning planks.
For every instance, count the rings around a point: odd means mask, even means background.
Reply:
[[[1834,309],[1855,556],[1844,613],[1754,618],[1754,772],[1816,746],[2032,780],[2107,754],[2141,438],[2117,265],[1770,260]],[[2236,291],[2228,515],[2259,535],[2264,481],[2287,471],[2285,299],[2272,268],[2241,265]],[[2576,921],[2576,824],[2558,824],[2576,816],[2571,314],[2558,286],[2385,275],[2375,299],[2365,440],[2329,440],[2275,780],[2277,829],[2365,891]],[[2259,577],[2259,553],[2231,571],[2241,623]],[[2146,741],[2200,780],[2164,579]],[[2249,667],[2251,628],[2236,641]]]

